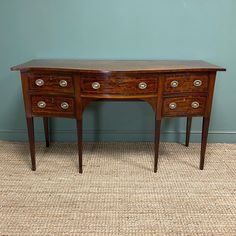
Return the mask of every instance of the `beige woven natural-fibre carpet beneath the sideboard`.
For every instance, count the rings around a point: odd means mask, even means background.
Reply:
[[[236,235],[236,144],[0,142],[0,235]]]

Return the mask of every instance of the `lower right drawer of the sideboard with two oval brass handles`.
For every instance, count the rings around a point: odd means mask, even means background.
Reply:
[[[201,116],[205,112],[206,97],[171,97],[164,98],[163,116]]]

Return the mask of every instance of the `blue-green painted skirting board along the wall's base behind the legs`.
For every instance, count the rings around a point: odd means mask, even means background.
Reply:
[[[36,141],[44,140],[43,130],[35,130]],[[154,130],[152,131],[130,131],[130,130],[84,130],[84,141],[153,141]],[[184,142],[185,131],[163,131],[161,141]],[[0,140],[27,141],[26,130],[1,130]],[[51,135],[52,141],[75,142],[76,130],[56,130]],[[192,131],[190,142],[201,141],[201,132]],[[236,143],[236,131],[210,131],[208,136],[210,143]]]

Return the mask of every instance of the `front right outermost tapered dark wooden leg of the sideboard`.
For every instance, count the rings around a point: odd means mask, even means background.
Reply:
[[[200,170],[203,170],[203,168],[204,168],[204,160],[205,160],[205,153],[206,153],[209,123],[210,123],[210,118],[203,117]]]

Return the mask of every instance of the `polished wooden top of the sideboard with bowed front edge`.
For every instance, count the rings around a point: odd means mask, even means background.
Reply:
[[[192,60],[76,60],[41,59],[14,66],[12,70],[57,69],[67,71],[116,72],[116,71],[224,71],[225,69],[205,61]]]

